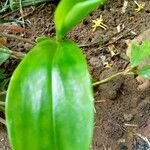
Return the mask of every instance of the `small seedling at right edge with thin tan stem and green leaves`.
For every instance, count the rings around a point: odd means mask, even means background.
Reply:
[[[107,83],[108,81],[120,75],[140,75],[150,78],[150,41],[143,41],[141,45],[133,44],[131,46],[131,56],[129,58],[130,68],[117,72],[112,76],[93,83],[93,86]]]

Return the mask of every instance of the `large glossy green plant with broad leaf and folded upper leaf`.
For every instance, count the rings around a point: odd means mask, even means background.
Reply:
[[[62,0],[56,40],[41,37],[12,75],[6,123],[13,150],[88,150],[94,106],[86,60],[64,36],[105,0]]]

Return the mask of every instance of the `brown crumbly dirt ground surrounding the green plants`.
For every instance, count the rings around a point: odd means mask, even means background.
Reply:
[[[68,35],[77,42],[87,58],[93,82],[102,80],[112,74],[126,69],[128,61],[125,57],[127,44],[125,40],[134,39],[150,28],[150,1],[143,0],[145,7],[135,13],[136,4],[129,0],[129,5],[122,13],[124,0],[109,0],[102,8],[87,16]],[[55,36],[53,13],[55,5],[46,4],[24,10],[30,23],[31,33],[23,36],[34,40],[40,35]],[[97,28],[92,31],[92,20],[103,16],[107,30]],[[12,13],[10,18],[20,17]],[[118,26],[125,27],[117,33]],[[129,31],[130,30],[130,31]],[[117,34],[116,34],[117,33]],[[114,35],[112,37],[112,35]],[[108,40],[109,39],[109,40]],[[100,42],[97,42],[100,41]],[[97,42],[97,44],[93,44]],[[112,44],[108,44],[111,43]],[[9,40],[11,50],[27,52],[32,45]],[[113,47],[116,55],[112,55]],[[105,63],[112,67],[108,67]],[[12,72],[18,61],[9,60],[4,67]],[[148,150],[150,147],[144,139],[150,139],[150,88],[137,90],[138,82],[133,75],[120,76],[112,81],[94,87],[95,96],[95,128],[93,150]],[[0,150],[10,149],[4,126],[0,125]]]

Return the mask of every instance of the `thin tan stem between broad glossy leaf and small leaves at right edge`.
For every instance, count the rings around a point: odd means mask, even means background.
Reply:
[[[124,70],[124,71],[121,71],[121,72],[118,72],[106,79],[103,79],[101,81],[97,81],[95,83],[93,83],[92,85],[93,86],[97,86],[97,85],[101,85],[101,84],[104,84],[104,83],[107,83],[108,81],[111,81],[112,79],[116,78],[117,76],[120,76],[120,75],[134,75],[134,73],[130,70]]]

